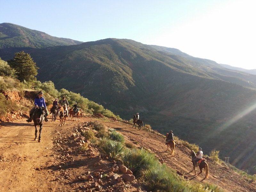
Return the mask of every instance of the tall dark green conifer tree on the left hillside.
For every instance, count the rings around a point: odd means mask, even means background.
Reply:
[[[36,63],[32,60],[28,53],[24,51],[15,53],[15,57],[12,60],[7,61],[8,64],[16,71],[17,79],[20,82],[24,80],[28,83],[36,80],[37,69]]]

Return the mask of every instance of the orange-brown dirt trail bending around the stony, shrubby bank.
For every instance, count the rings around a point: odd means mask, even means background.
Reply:
[[[102,121],[102,119],[85,118],[81,122]],[[191,159],[188,157],[189,150],[177,144],[174,157],[166,152],[164,138],[143,130],[134,130],[130,124],[120,123],[115,120],[102,121],[106,126],[116,128],[124,134],[127,141],[135,139],[137,147],[150,149],[156,156],[164,160],[168,166],[177,170],[180,175],[185,175],[189,180],[198,182],[211,182],[219,185],[227,191],[256,191],[255,182],[241,177],[237,173],[225,169],[224,166],[209,162],[210,178],[203,180],[205,173],[199,177],[189,173],[192,170]],[[66,125],[59,127],[59,120],[56,123],[44,123],[42,130],[42,142],[34,141],[35,127],[25,120],[17,123],[1,123],[0,127],[0,188],[1,191],[66,191],[64,184],[56,182],[54,174],[51,174],[50,166],[58,165],[56,161],[56,150],[53,140],[57,132],[72,134],[72,128],[78,122],[66,121]],[[175,133],[174,133],[175,134]],[[56,144],[55,144],[56,145]],[[77,160],[80,158],[76,157]],[[75,172],[79,172],[77,168]],[[80,171],[81,171],[80,170]],[[197,172],[199,169],[197,168]],[[214,178],[219,177],[219,178]],[[61,190],[60,190],[61,189]],[[75,191],[67,189],[67,191]]]

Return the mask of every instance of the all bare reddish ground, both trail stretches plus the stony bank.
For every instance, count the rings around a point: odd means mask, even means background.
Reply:
[[[66,121],[62,127],[58,126],[59,120],[44,123],[41,143],[34,141],[35,127],[24,118],[0,123],[1,191],[145,191],[143,181],[135,180],[122,162],[104,158],[80,135],[78,131],[88,129],[90,122],[96,120],[122,133],[126,142],[155,153],[180,177],[214,183],[227,191],[256,191],[255,181],[211,160],[208,160],[209,179],[203,180],[204,172],[196,177],[190,172],[193,168],[188,156],[190,150],[177,143],[171,157],[166,152],[165,139],[156,132],[138,131],[127,122],[91,116],[83,117],[80,122]]]

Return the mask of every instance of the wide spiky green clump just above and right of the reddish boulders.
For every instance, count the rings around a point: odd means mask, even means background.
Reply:
[[[138,176],[143,170],[149,169],[152,165],[158,162],[154,154],[149,153],[144,148],[141,149],[127,149],[122,157],[124,165],[129,169],[133,168],[134,175]]]

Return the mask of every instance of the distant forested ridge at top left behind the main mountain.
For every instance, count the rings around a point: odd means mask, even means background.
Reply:
[[[50,36],[44,32],[32,30],[12,23],[0,24],[0,49],[22,47],[45,48],[81,43],[83,42]]]

